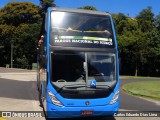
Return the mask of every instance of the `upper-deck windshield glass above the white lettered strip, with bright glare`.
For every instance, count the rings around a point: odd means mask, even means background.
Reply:
[[[102,16],[53,11],[51,13],[51,30],[57,33],[93,33],[92,36],[94,35],[95,37],[112,36],[110,17],[107,15]]]

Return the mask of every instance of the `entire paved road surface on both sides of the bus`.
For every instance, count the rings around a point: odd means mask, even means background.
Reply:
[[[122,79],[121,85],[131,82],[130,79]],[[138,79],[134,79],[138,81]],[[0,111],[42,111],[39,107],[38,93],[36,90],[36,72],[26,70],[0,68]],[[149,102],[121,91],[121,110],[159,111],[160,105]],[[7,118],[7,120],[21,120],[22,118]],[[24,119],[24,118],[23,118]],[[31,119],[31,118],[25,118]],[[45,118],[32,118],[44,120]],[[141,117],[107,117],[89,118],[88,120],[150,120]],[[154,118],[153,118],[154,119]],[[84,119],[83,119],[84,120]],[[155,118],[157,120],[157,118]]]

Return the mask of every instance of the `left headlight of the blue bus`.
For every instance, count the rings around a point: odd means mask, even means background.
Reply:
[[[56,96],[48,90],[49,97],[54,105],[63,106],[63,104],[56,98]]]

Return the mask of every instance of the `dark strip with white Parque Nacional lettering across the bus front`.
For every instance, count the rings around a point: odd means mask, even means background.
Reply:
[[[88,47],[88,48],[113,48],[112,38],[88,37],[88,36],[58,36],[51,37],[53,46]]]

